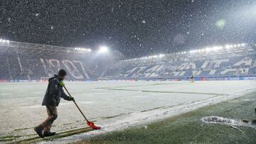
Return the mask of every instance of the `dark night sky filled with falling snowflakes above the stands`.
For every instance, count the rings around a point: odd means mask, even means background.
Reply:
[[[127,57],[256,41],[256,0],[0,0],[0,38]]]

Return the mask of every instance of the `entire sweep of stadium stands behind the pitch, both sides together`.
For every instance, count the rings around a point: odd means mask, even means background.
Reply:
[[[220,49],[220,50],[215,50]],[[0,80],[46,80],[61,68],[68,80],[88,79],[227,79],[256,77],[255,49],[206,48],[189,52],[119,60],[95,58],[93,52],[33,43],[0,43]]]

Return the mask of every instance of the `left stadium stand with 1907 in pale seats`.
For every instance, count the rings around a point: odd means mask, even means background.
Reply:
[[[104,61],[90,60],[90,52],[31,43],[0,45],[0,56],[1,80],[48,79],[61,68],[68,80],[96,79],[104,66]]]

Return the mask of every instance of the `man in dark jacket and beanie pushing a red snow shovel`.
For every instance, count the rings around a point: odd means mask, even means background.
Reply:
[[[59,70],[58,75],[54,75],[54,77],[50,77],[48,79],[48,87],[46,89],[46,94],[43,98],[42,106],[46,106],[46,111],[48,113],[48,118],[46,118],[43,123],[36,126],[34,130],[41,137],[44,138],[46,136],[55,135],[55,132],[50,132],[50,128],[53,125],[53,121],[58,116],[57,106],[60,103],[60,98],[63,98],[67,101],[75,101],[75,99],[71,96],[68,96],[63,91],[65,76],[67,72],[65,70]]]

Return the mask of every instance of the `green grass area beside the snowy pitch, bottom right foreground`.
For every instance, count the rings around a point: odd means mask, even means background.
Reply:
[[[255,99],[256,92],[253,92],[147,126],[114,131],[76,143],[256,143],[255,128],[201,121],[205,116],[255,120]]]

